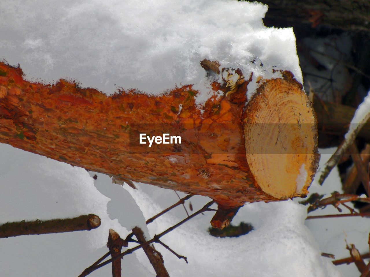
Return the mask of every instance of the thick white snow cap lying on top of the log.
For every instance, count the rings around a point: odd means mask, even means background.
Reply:
[[[267,9],[236,0],[2,0],[0,58],[29,80],[73,79],[108,95],[193,84],[198,103],[210,96],[203,59],[247,79],[253,71],[249,94],[259,75],[279,77],[272,68],[302,83],[293,29],[265,27]]]

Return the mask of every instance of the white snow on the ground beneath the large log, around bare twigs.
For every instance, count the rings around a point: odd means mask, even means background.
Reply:
[[[186,217],[178,206],[147,229],[146,219],[178,201],[174,191],[145,184],[135,184],[137,190],[122,188],[106,175],[97,174],[94,180],[90,177],[94,172],[89,175],[83,168],[6,144],[0,144],[0,156],[0,223],[83,213],[102,219],[102,225],[91,231],[0,239],[0,249],[7,253],[0,260],[4,276],[78,276],[107,252],[109,228],[125,238],[138,225],[152,237]],[[193,196],[190,201],[196,211],[210,199]],[[186,208],[191,213],[188,202]],[[319,245],[304,224],[305,206],[291,200],[247,204],[232,223],[249,222],[254,230],[234,238],[210,236],[207,228],[212,216],[213,212],[205,212],[162,237],[188,258],[188,264],[155,244],[170,276],[340,276],[330,260],[320,256]],[[18,259],[23,262],[16,263]],[[125,256],[122,268],[130,276],[155,276],[142,250]],[[110,271],[105,266],[90,276],[110,276]]]

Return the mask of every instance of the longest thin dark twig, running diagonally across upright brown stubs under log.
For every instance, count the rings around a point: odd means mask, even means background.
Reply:
[[[195,213],[191,214],[191,215],[190,215],[190,216],[188,216],[187,218],[185,218],[185,219],[181,220],[179,223],[177,223],[176,225],[174,225],[174,226],[172,226],[172,227],[168,228],[167,230],[163,231],[163,232],[162,232],[162,233],[160,233],[159,235],[155,235],[152,239],[148,240],[147,242],[142,243],[142,244],[140,244],[140,245],[138,245],[138,246],[135,246],[135,247],[133,247],[133,248],[131,248],[131,249],[128,249],[128,250],[126,250],[125,252],[121,253],[120,255],[118,255],[118,256],[116,256],[116,257],[114,257],[114,258],[111,258],[111,259],[109,259],[109,260],[106,260],[106,261],[102,262],[101,264],[98,264],[98,265],[96,265],[96,266],[90,266],[90,267],[88,267],[88,268],[87,268],[87,269],[85,269],[85,270],[83,271],[83,273],[81,273],[78,277],[84,277],[84,276],[87,276],[87,275],[88,275],[88,274],[90,274],[92,271],[97,270],[98,268],[103,267],[103,266],[105,266],[106,264],[111,263],[111,262],[112,262],[112,261],[114,261],[115,259],[121,258],[121,257],[123,257],[123,256],[125,256],[125,255],[127,255],[127,254],[130,254],[130,253],[134,252],[135,250],[140,249],[140,248],[141,248],[141,247],[143,247],[143,246],[146,246],[146,245],[148,245],[148,244],[150,244],[150,243],[155,242],[155,241],[156,241],[156,240],[158,240],[160,237],[162,237],[162,236],[166,235],[167,233],[171,232],[172,230],[174,230],[174,229],[175,229],[175,228],[177,228],[178,226],[182,225],[183,223],[185,223],[185,222],[186,222],[186,221],[188,221],[189,219],[192,219],[192,218],[194,218],[194,216],[199,215],[199,213],[202,213],[202,212],[206,211],[206,210],[208,209],[208,207],[209,207],[209,206],[211,206],[213,203],[215,203],[215,201],[208,202],[208,203],[207,203],[206,205],[204,205],[204,206],[203,206],[203,208],[201,208],[200,210],[198,210],[198,211],[196,211]]]

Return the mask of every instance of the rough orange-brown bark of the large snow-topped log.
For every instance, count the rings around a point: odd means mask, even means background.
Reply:
[[[227,96],[212,96],[199,109],[191,85],[162,96],[133,90],[107,96],[63,80],[31,83],[22,75],[20,68],[0,64],[1,143],[118,179],[209,196],[224,208],[305,195],[275,198],[250,172],[243,129],[249,81]],[[292,75],[281,80],[304,94]],[[181,144],[149,148],[139,144],[139,133],[181,136]]]

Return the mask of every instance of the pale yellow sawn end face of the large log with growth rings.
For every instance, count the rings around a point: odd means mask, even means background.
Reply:
[[[317,170],[316,116],[292,79],[263,82],[245,111],[250,171],[262,190],[278,199],[306,195]]]

